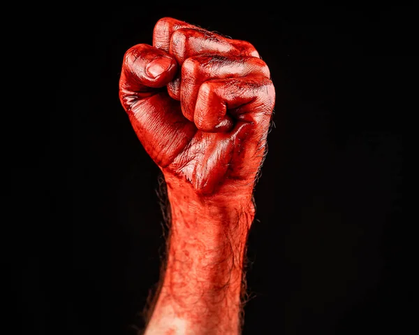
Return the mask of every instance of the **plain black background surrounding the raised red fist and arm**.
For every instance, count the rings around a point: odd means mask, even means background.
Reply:
[[[17,39],[30,73],[17,93],[36,94],[14,108],[17,240],[4,257],[14,327],[141,327],[164,243],[159,170],[119,103],[118,80],[124,52],[152,43],[154,24],[169,16],[251,42],[277,90],[255,191],[244,334],[401,334],[410,299],[402,50],[413,43],[413,9],[155,2],[34,6],[39,15]]]

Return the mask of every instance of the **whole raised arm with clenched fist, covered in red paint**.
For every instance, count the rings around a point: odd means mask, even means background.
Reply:
[[[119,98],[170,203],[146,335],[240,334],[252,194],[275,92],[253,45],[164,17],[127,50]]]

